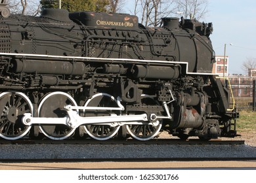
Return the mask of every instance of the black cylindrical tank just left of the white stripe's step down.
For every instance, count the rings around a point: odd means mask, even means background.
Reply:
[[[177,79],[179,77],[177,67],[135,65],[134,70],[135,78]]]

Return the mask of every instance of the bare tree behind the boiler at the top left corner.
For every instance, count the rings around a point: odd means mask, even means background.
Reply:
[[[36,16],[39,14],[40,3],[34,0],[12,0],[7,1],[12,14],[26,14]]]

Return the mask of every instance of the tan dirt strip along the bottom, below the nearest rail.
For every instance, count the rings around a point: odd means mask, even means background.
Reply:
[[[255,161],[0,163],[0,170],[256,168]]]

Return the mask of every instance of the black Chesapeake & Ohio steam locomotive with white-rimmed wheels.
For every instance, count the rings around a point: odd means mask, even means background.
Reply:
[[[45,9],[0,17],[0,137],[234,137],[212,24]]]

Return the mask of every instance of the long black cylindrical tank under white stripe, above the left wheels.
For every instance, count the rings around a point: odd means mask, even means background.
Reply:
[[[49,75],[83,75],[84,63],[69,61],[20,60],[13,62],[14,73],[38,73]]]

